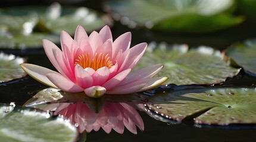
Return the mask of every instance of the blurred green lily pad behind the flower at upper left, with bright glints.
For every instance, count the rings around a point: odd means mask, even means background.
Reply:
[[[42,39],[60,43],[60,33],[74,34],[77,25],[90,32],[111,24],[107,15],[85,7],[16,7],[0,11],[0,47],[8,49],[40,48]]]

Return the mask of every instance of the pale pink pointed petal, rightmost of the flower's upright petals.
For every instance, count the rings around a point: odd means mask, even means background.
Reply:
[[[123,69],[133,69],[133,67],[138,63],[139,59],[143,56],[146,50],[146,43],[140,43],[132,47],[130,50],[129,62],[125,64]]]

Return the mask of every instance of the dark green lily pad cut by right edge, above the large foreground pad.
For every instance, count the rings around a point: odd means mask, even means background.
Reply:
[[[246,40],[243,43],[233,44],[226,50],[226,56],[246,72],[256,76],[256,40]]]

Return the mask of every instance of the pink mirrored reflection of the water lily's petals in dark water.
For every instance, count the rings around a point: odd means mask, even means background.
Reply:
[[[141,131],[144,130],[143,120],[137,110],[124,102],[106,102],[98,113],[82,102],[61,103],[54,114],[63,115],[74,124],[78,124],[80,133],[85,130],[88,133],[92,130],[98,131],[102,128],[106,133],[114,129],[117,133],[123,134],[126,127],[133,134],[137,134],[136,125]]]

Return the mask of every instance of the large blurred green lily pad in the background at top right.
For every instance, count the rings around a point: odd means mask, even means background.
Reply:
[[[129,27],[141,25],[162,31],[198,33],[241,23],[243,17],[227,12],[232,7],[232,0],[114,0],[107,2],[106,9],[110,9],[115,20]]]

